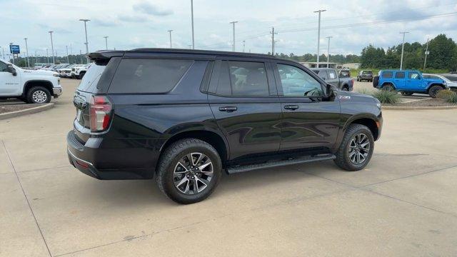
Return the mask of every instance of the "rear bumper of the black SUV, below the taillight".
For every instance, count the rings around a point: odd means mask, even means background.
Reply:
[[[70,164],[82,173],[102,180],[154,177],[154,168],[118,168],[131,161],[128,158],[134,154],[129,153],[129,148],[104,148],[103,141],[104,138],[89,138],[82,143],[73,130],[69,131],[66,143]]]

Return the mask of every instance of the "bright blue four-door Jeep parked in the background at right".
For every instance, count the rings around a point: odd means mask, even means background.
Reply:
[[[438,91],[447,89],[443,79],[425,79],[420,71],[382,70],[373,79],[376,89],[400,91],[403,96],[414,93],[428,94],[436,98]]]

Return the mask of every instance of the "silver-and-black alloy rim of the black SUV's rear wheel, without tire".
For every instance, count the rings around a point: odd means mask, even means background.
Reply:
[[[188,153],[176,163],[174,186],[181,193],[195,195],[208,188],[213,175],[214,166],[209,156],[204,153]]]

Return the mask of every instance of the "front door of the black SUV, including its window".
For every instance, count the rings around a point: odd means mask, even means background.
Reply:
[[[325,84],[298,64],[278,62],[273,69],[283,111],[280,151],[331,148],[339,131],[338,99],[322,101]]]

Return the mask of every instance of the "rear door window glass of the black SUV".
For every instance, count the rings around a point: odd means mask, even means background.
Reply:
[[[248,61],[229,61],[228,64],[233,96],[268,96],[270,94],[265,64]],[[222,69],[224,69],[224,65]]]

